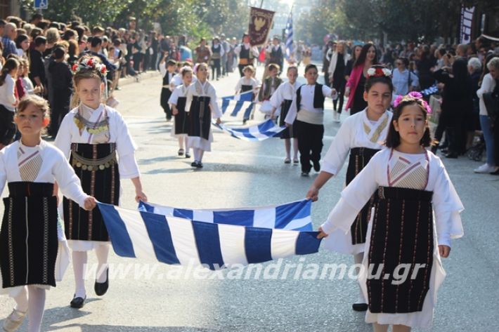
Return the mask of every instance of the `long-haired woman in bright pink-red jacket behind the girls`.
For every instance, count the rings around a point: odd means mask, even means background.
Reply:
[[[365,44],[362,47],[361,55],[354,62],[349,81],[346,82],[345,96],[349,98],[346,109],[350,109],[350,115],[361,112],[368,103],[364,100],[365,79],[368,76],[368,69],[372,65],[377,65],[377,50],[372,44]]]

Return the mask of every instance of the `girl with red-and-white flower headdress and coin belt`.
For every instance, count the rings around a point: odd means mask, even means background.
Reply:
[[[147,201],[142,191],[135,159],[136,145],[127,124],[116,109],[104,105],[106,68],[98,58],[85,57],[73,66],[73,84],[79,105],[60,124],[56,146],[70,160],[86,192],[98,201],[119,205],[120,180],[131,179],[136,201]],[[109,235],[101,212],[79,208],[64,198],[65,234],[72,248],[76,288],[71,307],[81,308],[86,299],[84,267],[86,252],[96,251],[98,269],[94,289],[98,296],[108,291]]]

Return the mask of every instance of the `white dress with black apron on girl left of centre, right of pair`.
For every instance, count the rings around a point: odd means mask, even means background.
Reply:
[[[215,88],[208,81],[197,81],[187,88],[186,112],[189,113],[187,147],[197,150],[212,151],[212,118],[222,116],[216,100]],[[196,156],[195,156],[196,158]],[[196,158],[197,161],[200,161]]]

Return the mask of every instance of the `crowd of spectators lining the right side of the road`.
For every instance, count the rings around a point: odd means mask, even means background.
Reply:
[[[364,49],[366,45],[368,48]],[[343,48],[346,51],[343,52]],[[439,117],[434,152],[441,150],[445,157],[458,158],[472,151],[476,157],[475,150],[481,149],[485,152],[486,163],[474,171],[498,173],[499,123],[487,111],[484,94],[498,91],[499,73],[496,74],[496,71],[499,72],[499,41],[480,36],[470,44],[409,42],[385,47],[375,44],[356,45],[351,41],[328,41],[323,49],[326,83],[335,85],[338,89],[335,80],[344,77],[348,81],[352,69],[366,61],[362,52],[368,54],[369,49],[375,54],[370,62],[372,65],[382,64],[392,69],[394,96],[410,91],[425,91],[428,88],[436,91],[441,112],[437,114]],[[335,59],[342,53],[348,55],[349,61],[345,66],[338,67]],[[341,58],[345,59],[346,56]],[[332,61],[335,66],[331,65]],[[331,69],[342,72],[331,72]],[[339,86],[341,90],[341,85]],[[342,92],[355,96],[355,91],[349,91],[349,84],[346,84],[346,91]],[[429,95],[426,98],[429,99]],[[354,101],[355,98],[352,98],[352,102]],[[350,108],[349,105],[346,108]]]

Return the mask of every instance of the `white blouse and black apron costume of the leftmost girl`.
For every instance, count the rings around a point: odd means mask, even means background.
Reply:
[[[35,147],[13,142],[0,151],[0,192],[4,219],[0,232],[0,293],[16,296],[22,286],[55,287],[69,264],[69,248],[58,223],[53,183],[84,206],[88,197],[79,178],[56,147],[42,140]]]

